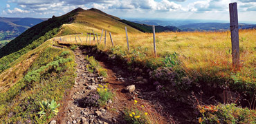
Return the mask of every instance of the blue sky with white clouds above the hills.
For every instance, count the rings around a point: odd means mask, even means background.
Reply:
[[[75,8],[97,8],[122,19],[229,21],[237,2],[239,21],[256,22],[256,0],[0,0],[0,17],[58,17]]]

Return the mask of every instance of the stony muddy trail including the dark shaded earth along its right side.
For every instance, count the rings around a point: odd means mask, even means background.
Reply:
[[[133,107],[134,100],[145,107],[150,118],[155,121],[151,123],[197,123],[198,113],[190,105],[165,99],[163,94],[149,85],[148,77],[143,77],[143,70],[136,68],[136,71],[131,72],[118,64],[118,61],[108,59],[106,54],[89,51],[84,47],[74,50],[77,78],[75,85],[64,97],[60,112],[55,118],[57,123],[126,123],[125,109]],[[86,55],[95,57],[100,65],[107,69],[106,79],[87,70],[89,61],[84,59]],[[98,85],[107,83],[114,93],[112,101],[107,101],[104,107],[83,105],[84,97],[96,90]],[[135,91],[127,92],[125,89],[128,85],[135,85]]]

